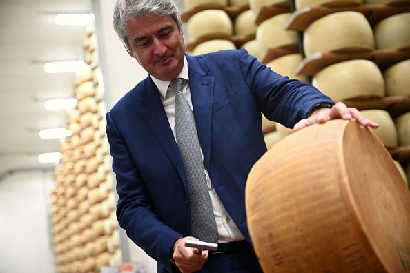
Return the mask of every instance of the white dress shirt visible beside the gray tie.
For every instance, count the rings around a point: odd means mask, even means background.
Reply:
[[[186,58],[184,60],[184,68],[182,68],[182,72],[179,74],[178,78],[185,79],[182,94],[184,94],[185,99],[188,101],[191,109],[193,109],[188,78],[188,61],[186,61]],[[155,79],[154,77],[152,77],[152,79],[159,90],[161,101],[166,112],[166,117],[168,117],[170,128],[173,130],[175,137],[175,97],[173,91],[169,88],[170,81],[161,81],[159,79]],[[204,160],[203,154],[202,160]],[[206,169],[205,164],[204,167],[206,183],[208,184],[208,191],[211,196],[213,212],[215,214],[215,221],[217,223],[219,232],[218,243],[228,243],[231,241],[244,240],[244,236],[237,228],[237,225],[231,219],[231,216],[229,216],[228,212],[226,212],[226,209],[224,208],[224,205],[222,205],[222,202],[219,200],[219,197],[217,196],[217,193],[213,188],[211,180],[209,179],[208,170]]]

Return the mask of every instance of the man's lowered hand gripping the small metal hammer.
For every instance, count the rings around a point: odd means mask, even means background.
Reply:
[[[193,247],[186,247],[185,240],[199,241],[194,237],[180,238],[174,243],[173,259],[175,265],[182,273],[191,273],[200,270],[208,260],[209,253],[204,250],[200,253],[193,252]]]

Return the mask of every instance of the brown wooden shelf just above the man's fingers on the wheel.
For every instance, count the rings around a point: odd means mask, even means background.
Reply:
[[[410,87],[409,87],[410,88]],[[373,98],[373,99],[346,99],[343,101],[349,107],[358,108],[358,110],[371,110],[380,109],[389,112],[391,117],[394,119],[400,114],[410,112],[410,97],[384,97],[384,98]]]

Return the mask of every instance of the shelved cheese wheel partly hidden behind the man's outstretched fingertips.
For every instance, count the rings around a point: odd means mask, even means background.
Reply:
[[[379,128],[372,130],[376,136],[382,141],[386,148],[396,148],[398,145],[398,137],[396,125],[391,118],[389,112],[385,110],[362,110],[360,111],[364,117],[378,123]]]

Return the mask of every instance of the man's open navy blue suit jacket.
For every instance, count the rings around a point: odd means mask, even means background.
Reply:
[[[245,50],[188,56],[189,84],[199,140],[211,181],[242,234],[245,185],[266,152],[261,112],[291,128],[316,103],[329,102],[311,85],[282,77]],[[191,232],[182,157],[158,90],[148,76],[107,114],[108,140],[117,178],[119,224],[158,272],[171,272],[170,249]]]

